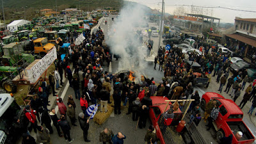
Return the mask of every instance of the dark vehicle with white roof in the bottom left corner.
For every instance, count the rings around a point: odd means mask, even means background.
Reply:
[[[0,143],[15,143],[21,134],[15,131],[13,123],[14,117],[20,119],[20,122],[25,122],[24,106],[19,106],[10,93],[0,94]]]

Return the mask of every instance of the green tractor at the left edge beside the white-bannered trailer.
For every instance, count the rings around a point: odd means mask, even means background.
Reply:
[[[6,92],[17,92],[17,86],[12,83],[12,79],[18,75],[18,71],[18,67],[0,66],[0,85]]]

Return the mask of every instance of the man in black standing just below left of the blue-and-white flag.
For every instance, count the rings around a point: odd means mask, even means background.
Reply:
[[[83,130],[83,137],[85,142],[90,142],[90,140],[87,139],[88,136],[88,129],[89,129],[89,118],[86,120],[84,113],[79,113],[78,120],[81,129]]]

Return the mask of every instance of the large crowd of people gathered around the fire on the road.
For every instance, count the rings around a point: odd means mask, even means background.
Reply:
[[[17,119],[15,127],[26,129],[24,125],[28,126],[28,130],[22,131],[22,142],[24,144],[35,143],[35,138],[29,134],[32,129],[36,132],[38,143],[51,143],[50,135],[53,133],[51,121],[56,127],[58,135],[60,137],[64,136],[66,141],[72,143],[74,139],[70,136],[71,127],[67,117],[74,127],[77,126],[78,119],[79,125],[83,130],[84,141],[90,142],[87,138],[90,115],[86,113],[86,109],[92,104],[100,104],[100,113],[108,113],[108,104],[111,104],[110,97],[112,97],[112,94],[114,113],[120,115],[122,113],[121,104],[127,106],[128,103],[126,115],[132,113],[132,120],[138,121],[140,129],[146,127],[149,107],[152,106],[151,96],[164,96],[172,100],[195,99],[188,109],[191,120],[196,125],[200,123],[201,119],[204,119],[205,123],[208,120],[207,130],[211,129],[212,120],[216,120],[218,117],[218,104],[214,100],[207,103],[204,116],[201,118],[200,96],[197,91],[193,93],[193,79],[196,76],[193,74],[192,69],[188,69],[188,64],[185,63],[187,60],[196,61],[202,66],[202,73],[208,78],[205,88],[211,83],[212,77],[216,76],[216,82],[220,83],[219,91],[221,93],[227,82],[224,92],[228,93],[232,88],[230,95],[234,102],[236,102],[237,97],[241,95],[241,91],[244,90],[244,86],[248,83],[246,70],[244,72],[234,72],[232,76],[229,76],[230,56],[223,54],[218,50],[218,47],[209,47],[209,45],[207,46],[200,42],[197,43],[197,47],[204,53],[202,55],[193,52],[184,54],[180,49],[173,47],[173,44],[170,44],[171,49],[169,51],[160,47],[154,61],[154,69],[159,63],[159,70],[164,71],[162,81],[156,83],[154,77],[151,79],[141,77],[140,81],[135,83],[124,73],[109,74],[108,71],[104,71],[103,66],[106,65],[108,67],[112,60],[111,51],[104,44],[104,34],[101,30],[92,33],[92,35],[90,32],[90,30],[83,32],[85,40],[81,45],[73,47],[71,55],[66,54],[62,60],[60,54],[58,54],[58,60],[55,63],[56,69],[49,75],[49,84],[46,81],[42,82],[30,105],[24,109],[26,118],[22,122]],[[74,42],[76,36],[73,39]],[[151,44],[148,47],[148,49],[151,49]],[[52,95],[56,96],[56,90],[59,90],[63,85],[63,77],[68,79],[70,87],[74,89],[75,97],[73,98],[72,95],[69,95],[67,104],[64,104],[61,98],[59,99],[58,109],[61,115],[59,118],[55,109],[47,109],[47,106],[49,106],[48,97],[51,91]],[[249,84],[245,89],[245,94],[240,104],[242,109],[248,100],[252,100],[252,108],[248,111],[251,115],[256,107],[256,99],[254,99],[256,93],[255,84]],[[191,97],[189,97],[190,95]],[[81,113],[76,118],[77,104],[81,106]],[[179,108],[182,109],[183,105],[180,103]],[[163,114],[164,118],[173,118],[172,112],[168,111]],[[146,143],[157,143],[157,137],[153,131],[154,126],[150,125],[145,136]],[[122,132],[114,135],[108,128],[102,130],[99,135],[99,141],[102,141],[102,143],[122,144],[125,138],[126,136]]]

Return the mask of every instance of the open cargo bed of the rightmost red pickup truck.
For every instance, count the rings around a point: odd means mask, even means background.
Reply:
[[[236,135],[237,131],[243,132],[243,138],[241,138],[239,141],[254,139],[251,132],[247,129],[243,122],[227,122],[227,124],[234,135]]]

